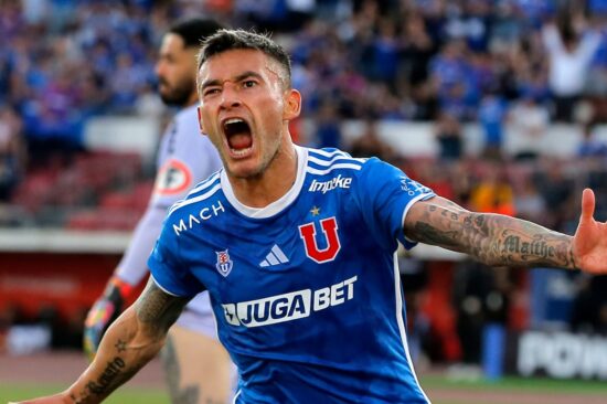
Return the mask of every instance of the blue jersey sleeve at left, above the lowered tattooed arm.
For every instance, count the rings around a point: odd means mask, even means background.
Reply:
[[[148,267],[161,289],[170,295],[191,297],[205,288],[180,259],[179,251],[179,240],[169,216],[148,259]]]

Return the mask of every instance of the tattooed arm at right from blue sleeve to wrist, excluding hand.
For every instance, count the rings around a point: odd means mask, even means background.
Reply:
[[[500,214],[468,212],[455,204],[425,204],[407,235],[422,243],[470,254],[489,265],[574,268],[572,237]]]

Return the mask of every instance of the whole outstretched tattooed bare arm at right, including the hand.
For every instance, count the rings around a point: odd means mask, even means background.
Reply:
[[[594,193],[585,190],[575,236],[500,214],[470,212],[444,198],[416,202],[405,235],[471,255],[488,265],[550,266],[607,273],[607,225],[593,219]]]

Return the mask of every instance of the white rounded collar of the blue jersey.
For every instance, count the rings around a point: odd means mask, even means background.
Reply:
[[[274,201],[267,206],[264,208],[251,208],[241,203],[236,195],[234,195],[234,190],[232,184],[227,179],[225,170],[221,171],[221,184],[223,193],[227,199],[227,202],[235,210],[248,217],[264,219],[274,216],[277,213],[280,213],[285,208],[287,208],[295,199],[299,195],[301,187],[303,185],[303,179],[306,178],[306,166],[308,166],[308,150],[306,148],[295,146],[295,151],[297,152],[297,178],[292,187],[285,193],[280,199]]]

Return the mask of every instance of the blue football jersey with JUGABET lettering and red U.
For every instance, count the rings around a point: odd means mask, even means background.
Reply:
[[[291,189],[239,203],[222,170],[175,203],[149,259],[169,294],[209,290],[236,403],[428,403],[407,349],[396,259],[434,196],[376,158],[296,147]]]

